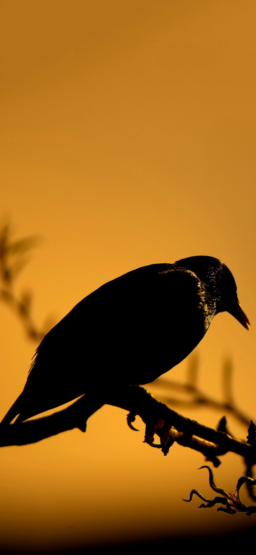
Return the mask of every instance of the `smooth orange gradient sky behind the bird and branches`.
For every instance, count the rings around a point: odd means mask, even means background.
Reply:
[[[2,0],[1,213],[17,237],[44,240],[17,291],[33,315],[62,318],[106,281],[151,263],[222,259],[252,322],[213,321],[197,348],[200,384],[221,397],[232,356],[238,406],[256,418],[254,0]],[[4,305],[1,417],[21,392],[34,348]],[[170,372],[182,381],[185,360]],[[71,369],[70,369],[71,371]],[[121,369],[120,369],[121,371]],[[150,390],[157,393],[157,386]],[[216,426],[222,412],[182,410]],[[255,517],[198,511],[211,496],[202,455],[142,443],[105,406],[78,430],[0,453],[0,536],[11,548],[106,545],[136,538],[216,538]],[[229,418],[232,431],[247,431]],[[222,457],[228,491],[244,473]],[[244,492],[244,501],[247,497]]]

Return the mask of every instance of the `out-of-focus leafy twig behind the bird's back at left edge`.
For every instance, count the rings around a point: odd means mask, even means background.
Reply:
[[[36,326],[31,314],[32,292],[23,291],[19,296],[14,292],[15,281],[28,263],[28,251],[38,244],[38,240],[29,237],[12,241],[10,225],[0,229],[0,300],[17,315],[29,339],[40,342],[53,322],[47,319],[42,329]]]

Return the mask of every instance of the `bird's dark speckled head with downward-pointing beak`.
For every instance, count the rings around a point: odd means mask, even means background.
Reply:
[[[239,304],[237,285],[226,264],[213,256],[190,256],[175,263],[193,271],[203,282],[216,305],[216,313],[229,312],[246,330],[250,322]]]

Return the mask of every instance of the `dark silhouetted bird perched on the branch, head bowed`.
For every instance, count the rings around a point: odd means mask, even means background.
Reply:
[[[249,330],[234,277],[212,256],[150,264],[107,282],[44,336],[1,425],[106,387],[149,384],[185,359],[224,311]]]

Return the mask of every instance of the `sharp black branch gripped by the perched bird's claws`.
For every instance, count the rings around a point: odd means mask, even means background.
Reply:
[[[2,425],[0,426],[0,446],[27,445],[73,428],[79,428],[85,432],[86,421],[103,406],[104,402],[107,405],[120,407],[139,415],[148,430],[153,430],[153,435],[156,433],[160,437],[159,447],[162,448],[165,455],[172,443],[176,441],[180,445],[200,451],[213,462],[214,466],[219,465],[217,457],[227,451],[244,457],[250,466],[256,463],[255,445],[250,445],[227,433],[213,430],[213,428],[190,420],[158,401],[143,387],[137,386],[107,389],[104,393],[99,393],[98,397],[84,395],[73,405],[55,412],[53,415],[8,426]],[[160,420],[164,422],[164,426],[156,429],[156,424]],[[168,435],[166,440],[163,440],[166,430],[168,430]],[[146,442],[153,445],[151,433],[147,433],[147,431]]]

